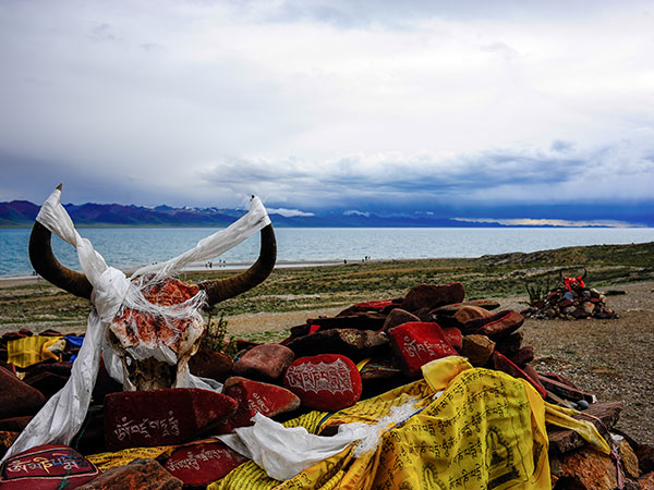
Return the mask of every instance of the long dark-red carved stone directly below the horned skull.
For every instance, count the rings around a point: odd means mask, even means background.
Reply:
[[[197,388],[111,393],[105,397],[107,449],[180,444],[235,411],[234,400]]]

